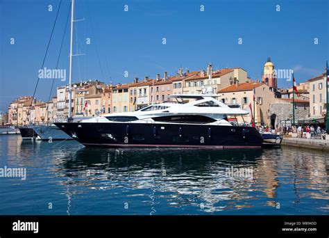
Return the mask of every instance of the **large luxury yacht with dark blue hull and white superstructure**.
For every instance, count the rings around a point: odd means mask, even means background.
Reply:
[[[151,104],[138,111],[111,113],[81,122],[55,125],[85,146],[260,148],[255,127],[233,125],[228,117],[248,111],[230,108],[215,94],[170,95],[175,102]],[[188,102],[187,102],[188,100]]]

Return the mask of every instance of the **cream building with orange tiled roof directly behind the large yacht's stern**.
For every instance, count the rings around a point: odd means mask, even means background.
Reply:
[[[255,89],[255,106],[253,103]],[[255,125],[271,125],[270,105],[276,100],[276,94],[267,84],[256,81],[228,86],[218,91],[221,102],[238,106],[240,109],[251,111],[255,115]],[[242,118],[237,118],[238,122],[243,122]],[[251,122],[251,115],[244,116],[245,122]]]

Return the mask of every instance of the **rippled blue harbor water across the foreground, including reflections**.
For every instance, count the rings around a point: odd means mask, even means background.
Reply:
[[[3,135],[0,168],[1,215],[329,214],[328,153],[316,150],[116,150]]]

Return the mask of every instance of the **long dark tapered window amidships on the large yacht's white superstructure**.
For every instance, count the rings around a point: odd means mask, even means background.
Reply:
[[[180,123],[210,123],[214,122],[213,118],[201,115],[182,115],[182,116],[160,116],[158,118],[152,118],[157,122],[180,122]]]

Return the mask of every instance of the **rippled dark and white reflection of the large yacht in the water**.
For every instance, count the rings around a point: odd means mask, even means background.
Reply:
[[[193,148],[161,151],[82,148],[72,159],[56,161],[60,168],[56,173],[70,178],[71,187],[76,189],[71,193],[75,194],[89,189],[108,193],[117,189],[131,191],[122,196],[138,193],[149,212],[154,212],[152,207],[158,207],[153,204],[161,200],[159,194],[166,194],[169,207],[202,206],[204,212],[218,212],[224,209],[219,203],[228,200],[233,207],[244,206],[242,200],[249,196],[246,191],[255,184],[255,177],[227,177],[226,169],[233,166],[256,170],[261,154],[262,150],[222,153]],[[156,214],[160,212],[156,210]]]

